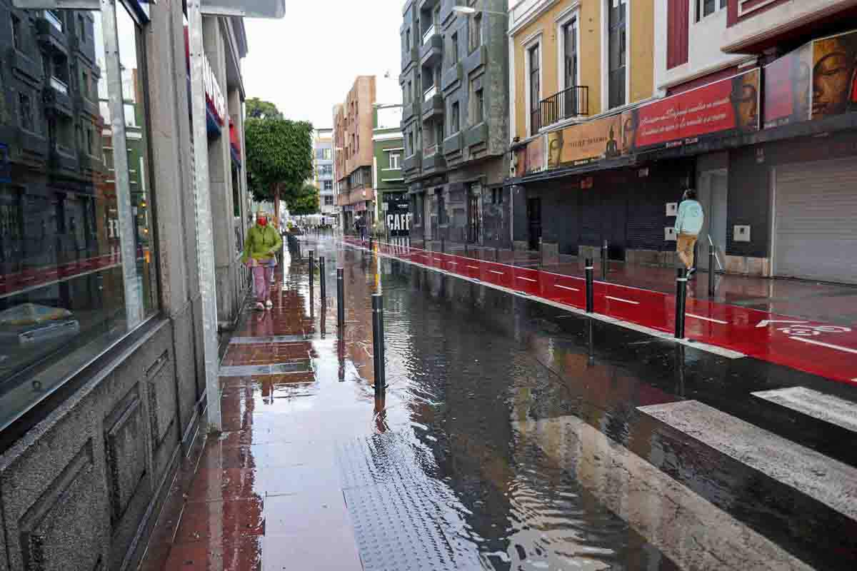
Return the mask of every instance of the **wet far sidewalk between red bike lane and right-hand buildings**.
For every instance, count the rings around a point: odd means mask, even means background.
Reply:
[[[391,240],[392,243],[396,241]],[[412,247],[424,247],[423,241],[411,241]],[[427,249],[440,251],[440,241],[428,241]],[[500,261],[502,264],[522,268],[538,268],[538,252],[512,252],[472,244],[446,242],[444,252],[468,258]],[[495,260],[496,257],[496,260]],[[601,260],[595,260],[596,280],[602,279]],[[560,255],[541,265],[545,271],[564,276],[584,277],[584,261],[574,256]],[[611,260],[608,263],[607,282],[632,288],[650,289],[664,294],[675,293],[675,270],[670,267],[628,264]],[[818,283],[809,280],[766,278],[718,274],[716,294],[708,294],[708,272],[699,271],[688,284],[688,296],[697,300],[710,300],[825,323],[851,326],[857,323],[857,286],[836,283]]]

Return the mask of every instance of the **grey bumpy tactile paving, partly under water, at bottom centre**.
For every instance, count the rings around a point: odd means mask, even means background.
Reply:
[[[476,545],[465,538],[463,506],[423,473],[403,437],[340,443],[337,461],[365,571],[483,568]]]

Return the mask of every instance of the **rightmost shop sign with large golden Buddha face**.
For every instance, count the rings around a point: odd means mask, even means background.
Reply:
[[[764,68],[764,128],[857,110],[857,31],[816,39]]]

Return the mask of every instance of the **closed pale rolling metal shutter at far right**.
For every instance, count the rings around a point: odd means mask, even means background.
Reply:
[[[774,273],[857,283],[857,161],[777,167]]]

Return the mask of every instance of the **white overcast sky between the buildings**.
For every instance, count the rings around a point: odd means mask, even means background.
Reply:
[[[287,0],[285,18],[247,19],[247,97],[276,104],[288,119],[333,126],[357,75],[378,77],[378,102],[401,103],[403,0]],[[390,72],[390,80],[384,74]]]

